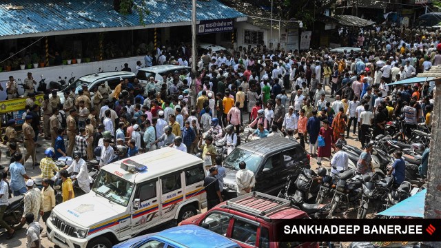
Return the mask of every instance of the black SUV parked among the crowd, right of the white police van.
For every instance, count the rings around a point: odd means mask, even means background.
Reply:
[[[236,172],[241,161],[245,161],[247,169],[256,176],[255,191],[277,196],[287,176],[298,175],[303,168],[310,168],[309,159],[300,143],[289,138],[267,137],[245,143],[225,158],[223,166],[227,175],[222,193],[228,199],[237,196]]]

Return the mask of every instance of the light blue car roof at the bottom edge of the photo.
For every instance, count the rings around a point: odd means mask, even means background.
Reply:
[[[172,227],[164,231],[158,232],[151,238],[166,239],[169,242],[174,242],[181,247],[231,247],[236,246],[236,242],[225,238],[214,231],[209,231],[203,227],[196,225],[183,225]]]

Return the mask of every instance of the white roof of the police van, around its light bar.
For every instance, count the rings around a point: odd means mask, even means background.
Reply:
[[[121,169],[121,162],[126,159],[145,165],[147,169],[134,174],[127,172],[124,169]],[[187,154],[187,152],[179,151],[178,149],[173,149],[172,147],[156,149],[152,152],[146,152],[130,158],[125,158],[124,160],[105,165],[101,169],[115,174],[116,176],[122,174],[123,176],[120,176],[121,178],[132,183],[139,183],[203,163],[201,158],[192,154]]]

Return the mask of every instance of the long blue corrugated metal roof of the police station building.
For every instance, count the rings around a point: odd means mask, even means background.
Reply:
[[[135,0],[141,6],[141,0]],[[145,1],[150,14],[144,15],[145,25],[189,22],[192,1]],[[196,19],[232,19],[245,14],[216,0],[196,1]],[[8,10],[7,6],[23,6],[23,10]],[[112,0],[8,0],[0,4],[0,37],[38,34],[89,28],[121,28],[139,26],[139,13],[123,15],[113,10]]]

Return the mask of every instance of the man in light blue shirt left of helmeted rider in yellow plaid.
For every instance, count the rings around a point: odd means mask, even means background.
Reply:
[[[14,154],[14,163],[9,165],[9,172],[11,174],[10,187],[14,196],[25,194],[28,191],[25,185],[25,179],[30,177],[25,172],[25,167],[20,163],[23,155],[17,153]]]

